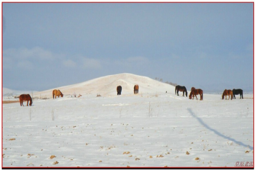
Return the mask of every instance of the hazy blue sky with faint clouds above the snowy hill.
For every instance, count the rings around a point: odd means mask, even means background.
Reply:
[[[3,87],[133,73],[253,91],[253,3],[3,3]]]

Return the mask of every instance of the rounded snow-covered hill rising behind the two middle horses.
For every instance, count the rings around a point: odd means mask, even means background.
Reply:
[[[52,91],[57,89],[60,90],[64,95],[81,94],[82,96],[96,96],[97,94],[100,94],[105,97],[117,95],[116,87],[119,85],[122,86],[121,95],[131,95],[133,94],[133,87],[135,84],[139,85],[139,92],[141,94],[175,91],[175,87],[170,84],[162,83],[145,76],[122,73],[117,75],[103,76],[69,86],[56,87],[42,92],[37,92],[33,94],[33,96],[52,98]]]

